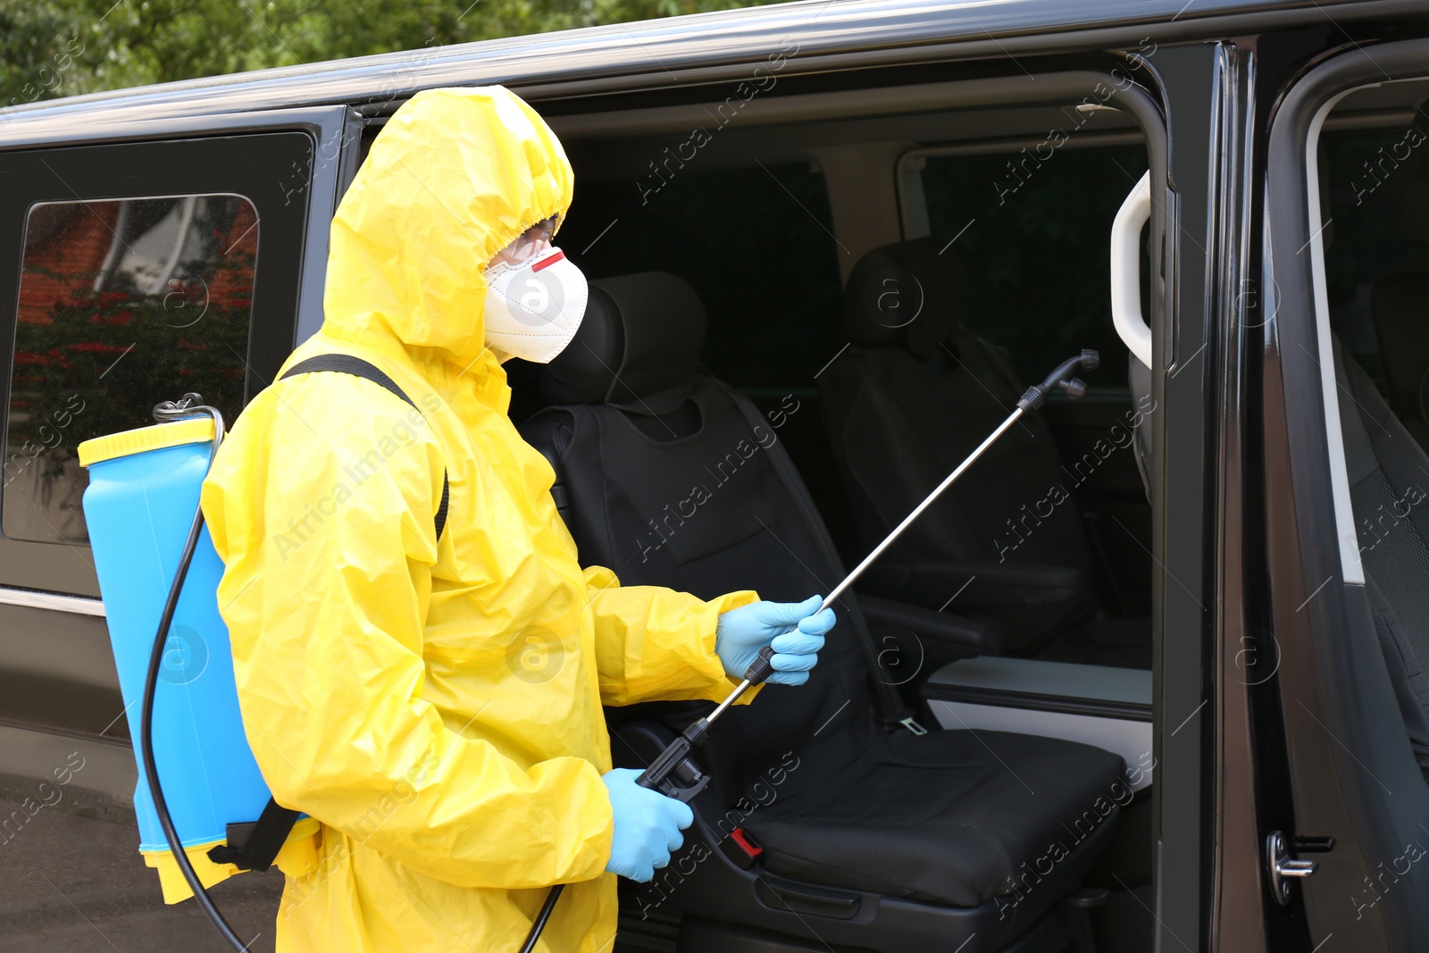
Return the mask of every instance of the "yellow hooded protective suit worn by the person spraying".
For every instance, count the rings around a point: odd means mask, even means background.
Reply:
[[[322,822],[279,953],[514,952],[554,883],[540,949],[609,953],[600,706],[735,684],[716,617],[757,596],[582,570],[506,416],[482,270],[570,199],[560,143],[507,90],[414,96],[342,200],[326,321],[289,366],[363,357],[422,413],[349,374],[282,380],[204,483],[249,742],[276,800]]]

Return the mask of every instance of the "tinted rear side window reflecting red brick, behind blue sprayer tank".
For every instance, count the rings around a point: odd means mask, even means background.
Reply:
[[[83,543],[81,440],[189,390],[243,407],[259,224],[233,194],[50,201],[26,216],[0,526]]]

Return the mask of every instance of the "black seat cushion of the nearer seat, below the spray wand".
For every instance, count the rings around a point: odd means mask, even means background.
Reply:
[[[1032,734],[882,734],[745,829],[770,873],[805,883],[962,907],[1056,897],[1083,867],[1076,849],[1109,834],[1130,800],[1123,772],[1117,754]],[[1095,844],[1080,853],[1089,863]]]

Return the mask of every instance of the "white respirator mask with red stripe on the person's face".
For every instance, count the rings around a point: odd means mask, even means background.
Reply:
[[[486,269],[486,346],[549,364],[586,314],[586,276],[550,244],[554,217],[522,233]]]

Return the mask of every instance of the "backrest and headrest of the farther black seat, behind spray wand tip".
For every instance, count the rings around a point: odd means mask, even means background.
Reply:
[[[826,426],[865,547],[875,546],[1012,413],[1006,357],[959,323],[963,267],[932,239],[875,249],[849,276],[852,341],[819,379]],[[1067,499],[1023,530],[1053,486],[1070,487],[1040,414],[1010,429],[900,540],[907,557],[1067,566],[1092,550]]]

